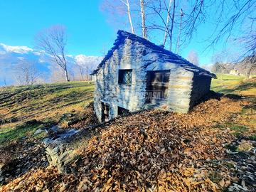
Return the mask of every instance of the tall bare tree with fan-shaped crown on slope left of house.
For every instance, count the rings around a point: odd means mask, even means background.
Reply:
[[[36,46],[51,56],[53,63],[58,65],[65,73],[65,80],[70,81],[68,76],[68,62],[66,60],[65,48],[67,38],[65,27],[56,25],[46,28],[36,35]]]

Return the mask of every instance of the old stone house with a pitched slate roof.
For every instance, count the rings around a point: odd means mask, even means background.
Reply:
[[[117,34],[114,47],[92,73],[101,122],[151,108],[186,113],[209,92],[213,73],[132,33]]]

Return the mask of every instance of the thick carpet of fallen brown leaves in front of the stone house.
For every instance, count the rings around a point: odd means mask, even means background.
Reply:
[[[228,122],[242,105],[223,97],[189,114],[154,110],[116,119],[80,149],[73,174],[38,169],[3,190],[19,185],[34,190],[41,180],[42,191],[220,191],[231,178],[214,161],[225,157],[223,146],[234,137],[228,129],[212,127]]]

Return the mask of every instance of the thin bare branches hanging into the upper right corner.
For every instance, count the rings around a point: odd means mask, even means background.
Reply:
[[[225,42],[232,39],[237,42],[240,50],[240,64],[247,70],[246,76],[250,77],[252,70],[256,68],[256,1],[255,0],[240,0],[240,1],[214,1],[216,7],[215,31],[211,34],[210,46],[220,41]],[[240,30],[241,33],[234,33]]]

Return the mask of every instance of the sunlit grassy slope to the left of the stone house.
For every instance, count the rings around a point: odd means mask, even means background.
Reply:
[[[29,137],[41,126],[36,119],[56,123],[62,114],[80,113],[92,101],[92,82],[67,82],[0,89],[0,144]]]

